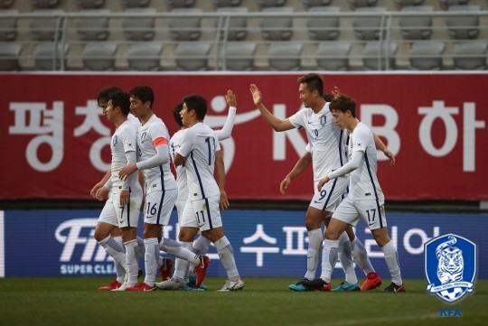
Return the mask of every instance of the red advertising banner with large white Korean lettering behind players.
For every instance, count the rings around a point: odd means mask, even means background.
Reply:
[[[97,93],[106,86],[155,89],[155,114],[173,135],[173,107],[184,95],[208,99],[205,123],[220,128],[224,94],[238,100],[230,139],[222,143],[230,199],[308,200],[312,171],[296,178],[286,195],[279,184],[305,152],[299,130],[276,133],[259,115],[249,93],[255,83],[276,116],[301,108],[301,73],[253,74],[0,74],[0,199],[89,199],[108,170],[113,126],[101,115]],[[379,178],[387,200],[488,200],[487,73],[355,73],[324,76],[356,99],[359,118],[396,154],[389,166],[379,153]]]

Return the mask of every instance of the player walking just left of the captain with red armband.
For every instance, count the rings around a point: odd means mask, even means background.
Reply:
[[[99,223],[95,229],[95,238],[101,246],[106,248],[108,254],[117,260],[119,265],[125,266],[127,273],[127,280],[113,291],[124,291],[127,286],[135,285],[139,271],[136,231],[143,201],[143,190],[138,182],[137,174],[131,175],[125,180],[118,178],[118,172],[124,166],[136,162],[137,129],[127,120],[129,110],[130,99],[126,92],[116,91],[110,95],[105,116],[116,126],[110,143],[111,177],[103,187],[97,190],[98,198],[105,197],[110,190],[111,193],[100,214]],[[115,225],[113,224],[114,217],[117,222]],[[115,244],[113,246],[108,244],[111,240],[109,233],[116,225],[122,233],[125,254],[124,251],[114,251]]]

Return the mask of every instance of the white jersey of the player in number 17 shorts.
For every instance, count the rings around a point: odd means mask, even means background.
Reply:
[[[349,154],[361,152],[363,154],[359,167],[350,173],[349,198],[351,200],[376,199],[384,202],[383,191],[378,182],[378,156],[371,129],[363,123],[354,128],[349,143]]]

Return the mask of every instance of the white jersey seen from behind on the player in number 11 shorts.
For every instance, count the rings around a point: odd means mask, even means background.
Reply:
[[[215,153],[219,150],[221,144],[210,126],[200,122],[184,131],[180,149],[176,153],[186,158],[184,168],[190,200],[221,194],[213,177]]]

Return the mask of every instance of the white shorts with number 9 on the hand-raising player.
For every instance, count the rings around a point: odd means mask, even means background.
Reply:
[[[339,177],[324,184],[322,190],[317,191],[318,182],[314,182],[314,198],[310,201],[310,205],[317,210],[324,210],[333,212],[343,197],[346,195],[347,186],[349,185],[349,178]]]

